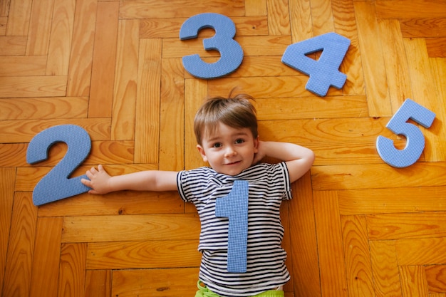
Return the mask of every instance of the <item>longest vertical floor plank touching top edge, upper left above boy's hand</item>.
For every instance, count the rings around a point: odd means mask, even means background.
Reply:
[[[88,117],[110,117],[118,38],[118,2],[98,2]]]

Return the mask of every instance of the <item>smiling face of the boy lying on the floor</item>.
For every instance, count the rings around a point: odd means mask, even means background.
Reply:
[[[259,145],[249,128],[234,128],[219,123],[214,134],[204,133],[202,145],[197,148],[204,162],[215,171],[237,175],[251,167]]]

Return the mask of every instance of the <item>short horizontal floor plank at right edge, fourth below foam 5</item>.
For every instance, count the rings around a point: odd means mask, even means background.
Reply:
[[[395,250],[398,264],[408,266],[444,263],[445,244],[444,237],[397,240],[395,241]]]

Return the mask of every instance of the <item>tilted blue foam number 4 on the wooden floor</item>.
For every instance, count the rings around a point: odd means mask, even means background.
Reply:
[[[347,75],[338,71],[350,46],[350,40],[338,33],[326,33],[291,44],[282,56],[282,63],[306,73],[310,78],[306,90],[319,96],[325,96],[331,85],[342,88]],[[306,55],[322,51],[318,61]]]

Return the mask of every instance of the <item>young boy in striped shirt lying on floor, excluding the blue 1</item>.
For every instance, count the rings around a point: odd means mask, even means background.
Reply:
[[[197,149],[210,167],[180,172],[143,171],[110,177],[101,165],[87,171],[91,194],[123,189],[178,191],[192,202],[202,224],[199,251],[202,263],[195,297],[284,296],[289,281],[286,252],[281,248],[284,228],[279,217],[281,200],[291,199],[291,182],[313,164],[311,150],[286,142],[264,142],[257,134],[251,96],[212,98],[195,116]],[[278,164],[259,163],[264,157]],[[259,163],[259,164],[258,164]],[[247,181],[247,270],[228,272],[229,219],[216,216],[216,201],[231,192],[234,181]]]

